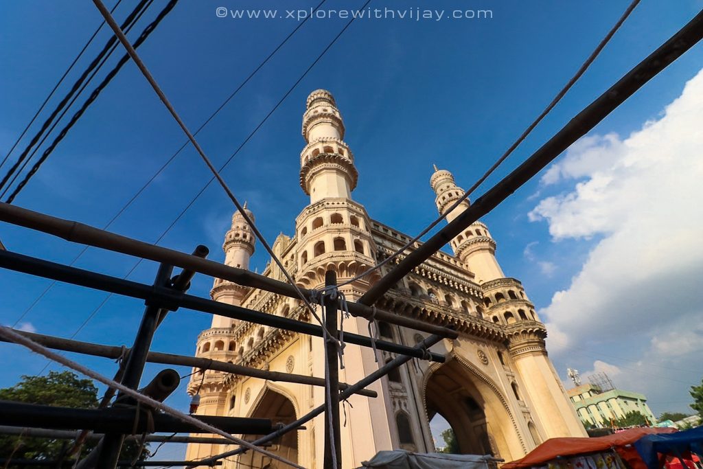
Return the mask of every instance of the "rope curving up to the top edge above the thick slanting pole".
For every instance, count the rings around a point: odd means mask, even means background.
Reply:
[[[549,105],[542,111],[542,113],[540,115],[538,115],[538,117],[531,124],[529,124],[527,129],[525,129],[525,131],[522,132],[522,135],[520,135],[520,137],[518,137],[518,139],[514,143],[512,143],[510,148],[508,148],[508,150],[506,150],[505,153],[503,153],[503,155],[501,155],[501,158],[498,158],[498,160],[496,160],[494,165],[491,166],[488,169],[488,171],[486,171],[486,173],[483,176],[481,176],[479,178],[479,180],[476,181],[473,186],[471,186],[469,188],[468,191],[466,191],[460,198],[458,198],[458,200],[456,200],[455,203],[453,203],[453,205],[451,205],[447,210],[445,210],[444,214],[440,214],[437,219],[432,221],[432,223],[429,226],[427,226],[427,228],[423,229],[423,231],[420,231],[420,233],[418,233],[418,236],[415,236],[415,238],[409,240],[408,243],[403,245],[399,250],[394,252],[392,255],[390,255],[389,257],[386,257],[385,259],[383,259],[381,262],[379,262],[375,266],[369,267],[368,269],[366,269],[366,271],[361,272],[361,274],[357,275],[356,277],[340,283],[339,286],[341,287],[344,285],[348,285],[349,283],[358,281],[359,279],[367,276],[368,274],[371,274],[372,272],[377,271],[382,266],[385,266],[385,264],[388,264],[393,259],[395,259],[399,255],[403,254],[413,244],[417,243],[418,240],[420,240],[420,238],[425,236],[435,226],[437,226],[442,220],[444,220],[446,218],[447,214],[451,213],[456,207],[461,205],[461,203],[463,203],[463,201],[466,200],[469,197],[469,195],[471,195],[473,193],[473,191],[475,191],[481,184],[483,184],[483,182],[486,181],[486,179],[488,179],[488,177],[491,174],[493,174],[493,172],[508,158],[508,156],[510,156],[512,154],[512,152],[518,146],[520,146],[520,143],[522,143],[522,141],[524,141],[524,139],[527,139],[527,136],[531,133],[531,131],[534,130],[534,128],[537,127],[537,125],[540,122],[542,122],[544,117],[546,117],[546,115],[548,115],[550,113],[550,111],[557,105],[557,103],[559,103],[562,100],[562,98],[567,94],[567,91],[569,91],[569,89],[571,89],[572,86],[574,86],[574,84],[576,84],[576,82],[579,80],[579,78],[581,78],[581,76],[586,72],[586,70],[588,70],[588,68],[591,66],[591,64],[595,60],[595,58],[598,57],[600,52],[605,48],[605,46],[610,41],[610,39],[614,36],[614,34],[617,32],[617,30],[620,29],[621,25],[625,22],[625,20],[628,18],[630,13],[632,13],[632,11],[635,9],[635,7],[639,3],[640,3],[640,0],[633,0],[632,1],[630,6],[628,6],[627,9],[625,10],[625,12],[621,15],[621,17],[617,21],[617,23],[615,23],[615,25],[605,35],[605,37],[602,39],[602,41],[600,41],[600,44],[598,44],[598,46],[596,46],[595,50],[591,53],[591,56],[588,56],[588,58],[586,59],[586,62],[584,62],[583,65],[581,65],[581,68],[579,68],[579,70],[576,72],[576,75],[574,75],[572,77],[572,79],[570,79],[569,82],[567,82],[567,84],[564,86],[564,88],[562,88],[561,91],[559,91],[559,93],[557,93],[557,96],[555,96],[555,98],[552,100],[552,102],[549,103]]]

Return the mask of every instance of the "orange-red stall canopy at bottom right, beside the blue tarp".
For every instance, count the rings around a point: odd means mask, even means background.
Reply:
[[[546,465],[556,458],[579,456],[581,454],[607,451],[613,447],[632,444],[646,435],[676,432],[674,428],[631,428],[597,438],[551,438],[537,446],[527,456],[512,463],[506,463],[501,469],[519,469]]]

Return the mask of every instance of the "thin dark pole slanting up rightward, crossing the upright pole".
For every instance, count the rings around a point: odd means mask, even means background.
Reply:
[[[415,349],[420,350],[420,352],[423,352],[424,354],[427,354],[427,349],[432,347],[432,345],[437,344],[438,342],[441,342],[443,338],[441,338],[439,335],[430,335],[430,337],[425,338],[422,342],[420,342],[418,345],[415,345]],[[354,383],[353,385],[349,386],[347,390],[344,390],[340,392],[340,401],[343,401],[344,399],[348,399],[349,397],[356,392],[356,390],[363,389],[364,387],[374,383],[376,380],[379,380],[380,378],[384,377],[389,373],[389,371],[394,370],[395,368],[398,368],[401,365],[406,364],[408,361],[411,361],[412,357],[408,355],[399,355],[396,356],[394,359],[389,361],[387,364],[380,366],[378,370],[374,371],[373,373],[370,373],[370,375],[366,376],[365,378],[362,378],[359,380],[359,382]],[[282,435],[285,433],[288,433],[292,430],[296,430],[297,428],[300,428],[300,425],[304,425],[304,423],[309,422],[316,416],[320,415],[325,411],[325,404],[316,407],[315,409],[309,411],[307,414],[299,418],[298,420],[295,420],[295,422],[289,423],[288,425],[284,425],[282,428],[279,428],[275,432],[270,433],[269,435],[266,435],[264,437],[261,437],[259,439],[256,439],[252,442],[252,444],[256,445],[262,445],[266,444],[269,442],[272,442],[273,440],[280,438]],[[197,465],[189,465],[188,469],[191,468],[198,468],[198,467],[209,467],[210,464],[214,463],[215,461],[223,458],[228,458],[230,456],[236,456],[237,454],[243,453],[244,451],[247,451],[246,448],[238,448],[238,449],[233,449],[231,451],[226,451],[225,453],[221,454],[216,454],[215,456],[211,456],[209,458],[202,459],[202,461],[199,461],[199,464]]]

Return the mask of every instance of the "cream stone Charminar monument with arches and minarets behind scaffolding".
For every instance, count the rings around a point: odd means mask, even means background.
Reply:
[[[337,272],[341,283],[410,240],[371,218],[352,198],[359,172],[352,150],[344,143],[344,132],[332,94],[313,91],[303,114],[306,145],[300,153],[300,187],[310,196],[310,203],[295,219],[295,234],[281,234],[273,243],[273,251],[303,288],[323,287],[328,269]],[[440,213],[463,194],[452,174],[437,167],[430,176],[430,186]],[[463,202],[447,214],[447,219],[451,221],[468,206],[468,201]],[[245,210],[254,219],[254,214]],[[437,252],[376,305],[395,314],[449,324],[458,330],[459,338],[444,340],[432,348],[447,355],[446,363],[413,360],[369,387],[378,392],[377,398],[354,395],[348,404],[342,404],[345,469],[358,467],[382,450],[434,451],[430,420],[437,414],[453,428],[460,453],[493,454],[505,461],[524,456],[548,438],[586,436],[547,356],[546,328],[522,283],[503,274],[489,229],[476,222],[450,245],[453,255]],[[232,217],[223,248],[226,264],[249,267],[254,236],[239,212]],[[347,300],[356,301],[385,271],[341,290]],[[284,280],[273,263],[264,276]],[[215,280],[212,298],[311,321],[295,299],[229,281]],[[344,330],[366,334],[367,324],[365,319],[352,317],[344,321]],[[423,338],[423,333],[387,323],[380,323],[378,331],[383,340],[404,345],[415,345]],[[392,354],[378,351],[376,361],[373,353],[370,348],[347,346],[340,381],[356,383],[392,359]],[[321,338],[222,316],[214,316],[212,327],[200,333],[195,354],[271,371],[324,376]],[[201,415],[271,418],[282,423],[324,402],[323,387],[273,383],[218,371],[193,375],[188,392],[200,395],[197,413]],[[311,420],[307,430],[288,433],[269,449],[306,468],[322,468],[323,418],[321,415]],[[186,458],[203,458],[231,448],[191,444]],[[223,467],[283,465],[247,451],[224,461]]]

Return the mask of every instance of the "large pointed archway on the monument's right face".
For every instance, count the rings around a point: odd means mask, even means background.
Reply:
[[[456,352],[447,356],[446,363],[430,366],[421,389],[427,421],[437,414],[444,417],[455,432],[460,453],[490,453],[510,460],[527,453],[501,391]]]

